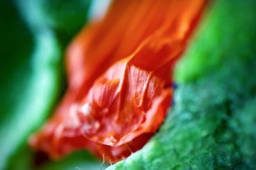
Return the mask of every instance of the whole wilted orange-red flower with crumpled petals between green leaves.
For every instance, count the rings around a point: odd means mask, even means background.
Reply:
[[[57,158],[88,148],[116,162],[139,150],[163,123],[172,69],[204,0],[115,1],[68,48],[68,90],[30,139]]]

